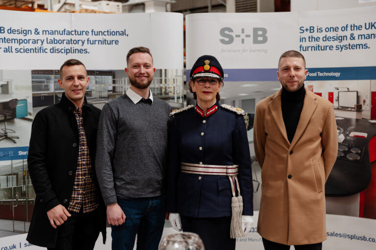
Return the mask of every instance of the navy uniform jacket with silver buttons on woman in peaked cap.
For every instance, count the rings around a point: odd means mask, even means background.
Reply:
[[[243,215],[253,215],[251,158],[244,118],[218,102],[214,105],[217,111],[207,117],[195,108],[174,115],[169,140],[168,212],[190,217],[231,216],[229,177],[183,173],[180,163],[185,162],[239,165]]]

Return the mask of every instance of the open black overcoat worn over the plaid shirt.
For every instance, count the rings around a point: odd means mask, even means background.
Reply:
[[[73,113],[74,104],[63,94],[60,103],[39,111],[33,121],[27,167],[36,198],[27,241],[33,245],[54,248],[57,229],[47,217],[47,211],[61,204],[68,208],[76,174],[79,134]],[[95,175],[96,133],[100,109],[87,104],[82,107],[84,129],[98,191],[101,232],[106,240],[106,207],[100,195]]]

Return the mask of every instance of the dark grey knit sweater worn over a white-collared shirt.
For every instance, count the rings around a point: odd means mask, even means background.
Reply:
[[[99,118],[95,170],[106,205],[118,198],[165,193],[167,135],[171,107],[134,104],[124,94],[104,105]]]

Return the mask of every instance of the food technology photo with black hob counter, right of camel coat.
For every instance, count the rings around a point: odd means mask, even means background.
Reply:
[[[327,212],[341,211],[376,219],[375,80],[306,81],[306,84],[316,95],[333,103],[336,115],[338,154],[326,184],[326,195],[332,197],[327,198]],[[335,197],[351,198],[347,206],[339,208],[336,205],[339,198]]]

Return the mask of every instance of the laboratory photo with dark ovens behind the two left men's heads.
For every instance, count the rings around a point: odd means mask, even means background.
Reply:
[[[87,70],[88,103],[102,109],[104,104],[126,93],[130,86],[124,70]],[[172,107],[183,107],[182,70],[156,69],[150,90]],[[59,70],[31,70],[32,107],[35,116],[41,109],[60,101],[64,90],[58,83]]]

